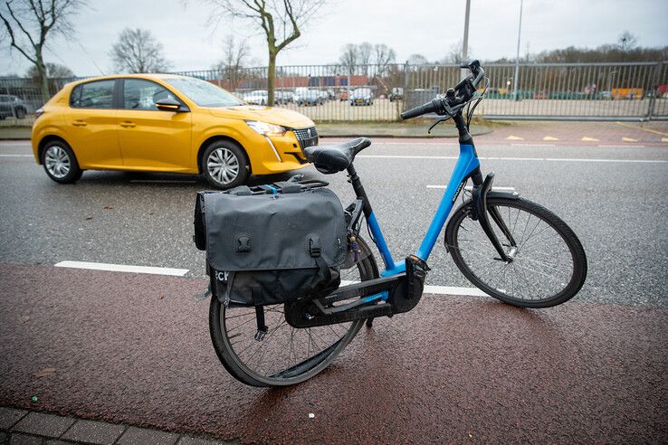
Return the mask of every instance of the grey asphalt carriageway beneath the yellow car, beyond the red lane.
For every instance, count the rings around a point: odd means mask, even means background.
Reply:
[[[577,301],[668,306],[666,147],[480,144],[478,152],[483,173],[496,172],[495,185],[548,207],[579,236],[589,273]],[[197,176],[86,172],[76,185],[57,185],[29,154],[27,142],[0,142],[1,262],[94,261],[204,276],[192,221],[196,191],[208,187]],[[359,156],[358,173],[396,258],[422,241],[443,194],[427,185],[445,185],[456,156],[452,139],[377,140]],[[330,181],[344,203],[353,198],[345,175],[300,173]],[[471,287],[443,242],[429,265],[427,284]]]

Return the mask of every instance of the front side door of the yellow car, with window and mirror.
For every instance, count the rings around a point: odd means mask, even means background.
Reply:
[[[117,121],[124,166],[174,172],[191,169],[191,113],[162,111],[155,105],[159,99],[180,99],[152,80],[121,81]]]

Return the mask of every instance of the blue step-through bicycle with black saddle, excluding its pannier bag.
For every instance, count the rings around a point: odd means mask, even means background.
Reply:
[[[460,156],[425,239],[413,255],[394,260],[367,193],[353,166],[371,142],[358,138],[337,146],[307,147],[304,153],[325,174],[348,172],[357,199],[346,209],[351,252],[341,268],[342,286],[322,298],[264,307],[257,336],[256,308],[226,307],[211,298],[209,326],[216,354],[243,383],[284,386],[325,369],[358,334],[365,321],[404,313],[422,297],[427,260],[457,197],[464,199],[445,228],[445,247],[473,285],[493,298],[521,308],[549,308],[577,294],[587,277],[587,258],[576,234],[554,213],[516,193],[493,190],[494,174],[482,176],[469,134],[472,113],[482,99],[485,78],[478,61],[444,97],[402,113],[415,118],[435,113],[453,119]],[[489,83],[489,80],[488,80]],[[430,128],[431,129],[431,128]],[[465,187],[472,181],[472,189]],[[364,217],[364,218],[362,218]],[[359,232],[366,225],[384,270]]]

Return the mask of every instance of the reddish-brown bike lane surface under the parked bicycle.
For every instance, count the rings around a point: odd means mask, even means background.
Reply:
[[[258,389],[219,364],[204,287],[0,265],[0,405],[242,443],[668,440],[665,309],[426,295],[309,382]]]

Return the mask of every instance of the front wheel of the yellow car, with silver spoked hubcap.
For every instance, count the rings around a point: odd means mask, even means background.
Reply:
[[[200,172],[215,188],[226,190],[245,183],[250,173],[243,148],[234,142],[212,142],[202,153]]]

